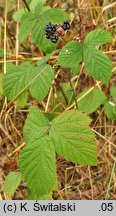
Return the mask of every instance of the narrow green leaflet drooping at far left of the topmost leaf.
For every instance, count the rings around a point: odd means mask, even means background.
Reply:
[[[22,42],[31,32],[36,23],[36,16],[27,12],[23,15],[21,19],[21,27],[18,35],[18,39]]]

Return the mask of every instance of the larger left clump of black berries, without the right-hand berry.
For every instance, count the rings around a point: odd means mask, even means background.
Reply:
[[[53,43],[57,43],[59,38],[57,35],[54,35],[54,33],[56,32],[55,25],[48,23],[45,27],[45,31],[46,31],[46,38],[50,39]]]

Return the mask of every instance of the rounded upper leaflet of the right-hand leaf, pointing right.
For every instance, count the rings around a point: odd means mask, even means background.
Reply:
[[[88,33],[84,40],[85,45],[98,46],[112,41],[111,33],[104,29],[95,29]]]

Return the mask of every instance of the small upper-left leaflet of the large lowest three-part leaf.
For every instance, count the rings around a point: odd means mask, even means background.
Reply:
[[[45,135],[49,127],[49,121],[37,108],[31,107],[29,109],[28,118],[25,121],[25,126],[23,129],[24,138],[27,142],[32,142],[32,140]]]

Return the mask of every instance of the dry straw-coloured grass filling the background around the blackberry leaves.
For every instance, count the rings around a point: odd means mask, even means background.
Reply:
[[[0,59],[0,70],[6,73],[6,63],[13,62],[18,65],[21,61],[31,58],[36,61],[42,57],[34,45],[31,50],[25,49],[18,42],[19,25],[12,20],[13,12],[21,5],[21,1],[9,3],[0,1],[0,47],[4,48],[4,58]],[[113,62],[113,70],[116,67],[115,57],[115,7],[112,1],[98,0],[75,0],[75,1],[47,1],[51,2],[52,7],[67,7],[71,13],[72,29],[65,40],[70,41],[73,37],[79,36],[83,41],[85,35],[94,28],[105,28],[112,33],[113,41],[111,44],[102,47],[102,50],[110,57]],[[69,2],[69,4],[67,3]],[[104,4],[102,5],[102,3]],[[30,39],[29,39],[29,44]],[[51,61],[55,61],[55,56]],[[83,90],[86,85],[94,88],[98,85],[103,88],[102,83],[94,83],[88,77],[85,70],[79,77],[78,92]],[[113,75],[109,87],[115,85]],[[54,83],[53,83],[54,84]],[[109,94],[109,87],[105,88],[105,93]],[[48,97],[41,103],[45,111],[53,113],[50,107],[52,88]],[[28,106],[34,101],[28,102]],[[38,104],[36,104],[38,105]],[[73,104],[75,105],[75,104]],[[27,106],[27,107],[28,107]],[[57,104],[61,106],[61,104]],[[62,104],[63,111],[66,107]],[[71,106],[72,107],[72,106]],[[68,107],[71,108],[71,107]],[[27,116],[28,109],[17,107],[16,103],[7,103],[7,99],[0,97],[0,199],[26,199],[26,187],[24,182],[16,191],[13,197],[8,197],[3,191],[4,177],[10,171],[17,170],[17,160],[21,147],[25,145],[22,128]],[[57,109],[56,109],[57,110]],[[91,115],[91,127],[96,133],[96,143],[98,149],[99,162],[97,167],[74,165],[57,157],[57,170],[59,179],[59,189],[53,194],[53,199],[75,199],[75,200],[96,200],[96,199],[116,199],[116,146],[115,146],[115,122],[108,120],[104,107],[100,107],[96,113]],[[16,150],[15,150],[16,149]],[[14,152],[13,152],[14,151]]]

